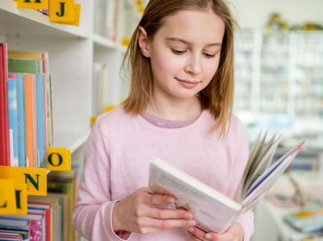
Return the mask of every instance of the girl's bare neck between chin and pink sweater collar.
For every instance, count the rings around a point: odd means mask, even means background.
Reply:
[[[202,108],[198,97],[185,101],[150,101],[146,108],[147,114],[169,121],[191,121],[200,116]]]

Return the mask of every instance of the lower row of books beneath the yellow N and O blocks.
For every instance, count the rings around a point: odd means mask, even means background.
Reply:
[[[47,196],[28,196],[27,214],[0,215],[0,240],[76,240],[76,173],[77,169],[50,172]]]

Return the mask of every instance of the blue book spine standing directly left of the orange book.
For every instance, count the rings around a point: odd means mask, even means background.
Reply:
[[[23,74],[17,74],[19,167],[25,167],[25,88]]]

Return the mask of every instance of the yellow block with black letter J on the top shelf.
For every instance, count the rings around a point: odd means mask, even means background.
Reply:
[[[50,21],[73,22],[75,20],[74,0],[50,0]]]

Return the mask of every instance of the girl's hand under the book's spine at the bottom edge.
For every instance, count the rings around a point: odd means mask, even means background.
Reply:
[[[197,227],[189,227],[193,240],[203,241],[242,241],[244,238],[244,229],[238,222],[233,222],[231,227],[225,233],[205,233]]]

